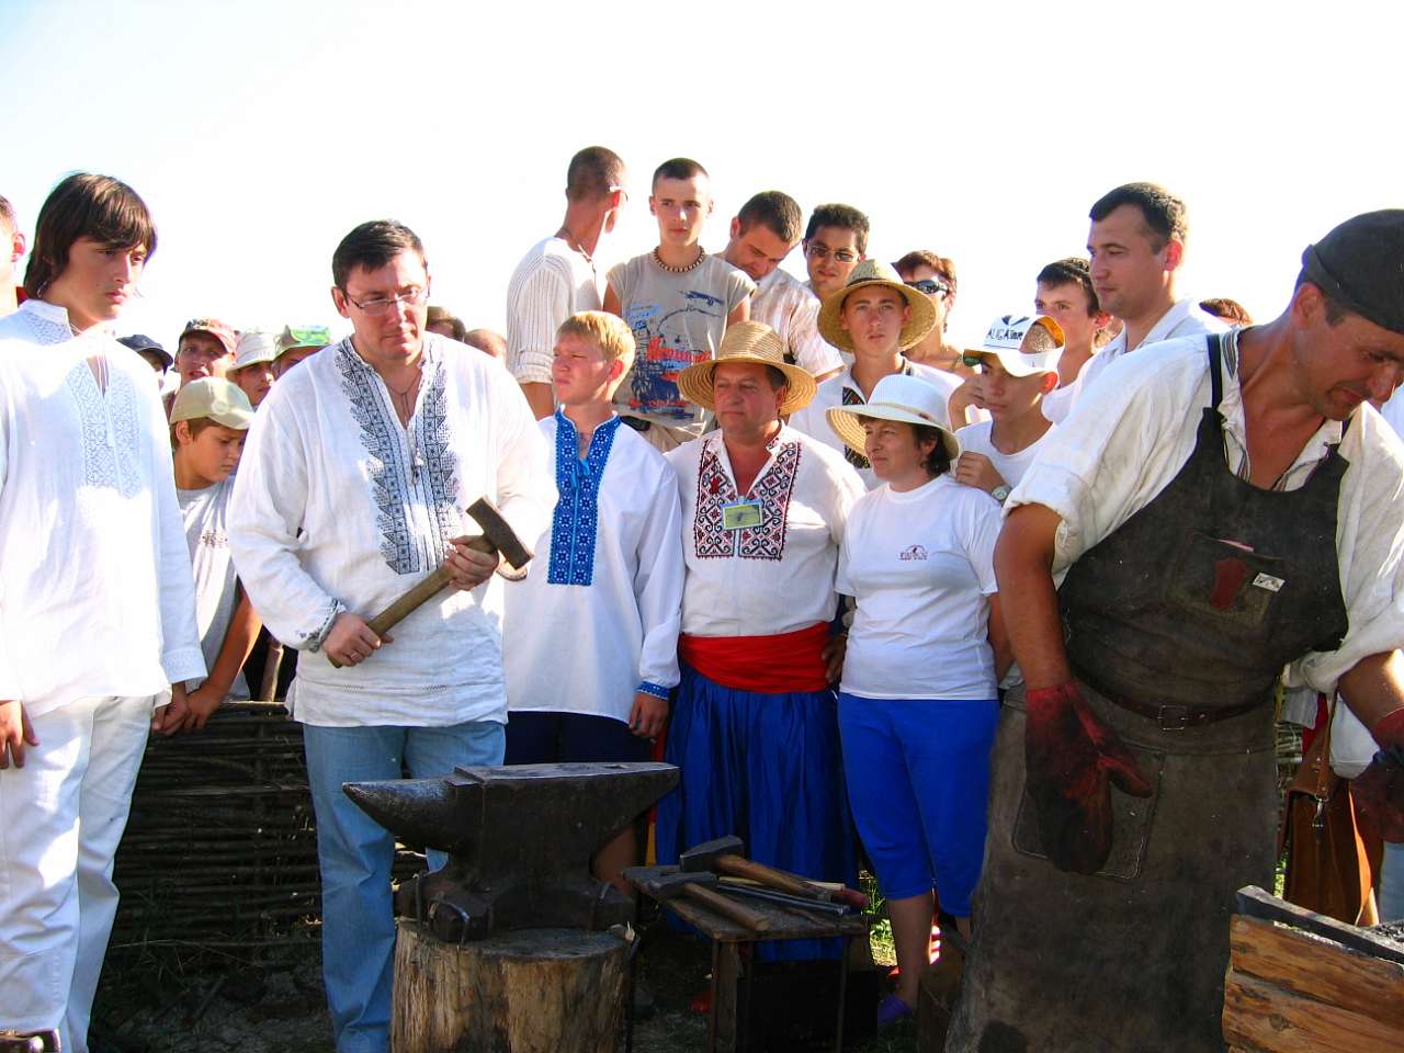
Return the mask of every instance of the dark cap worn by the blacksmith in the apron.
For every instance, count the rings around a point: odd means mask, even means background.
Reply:
[[[1366,322],[1404,333],[1404,209],[1366,212],[1309,244],[1302,277]]]

